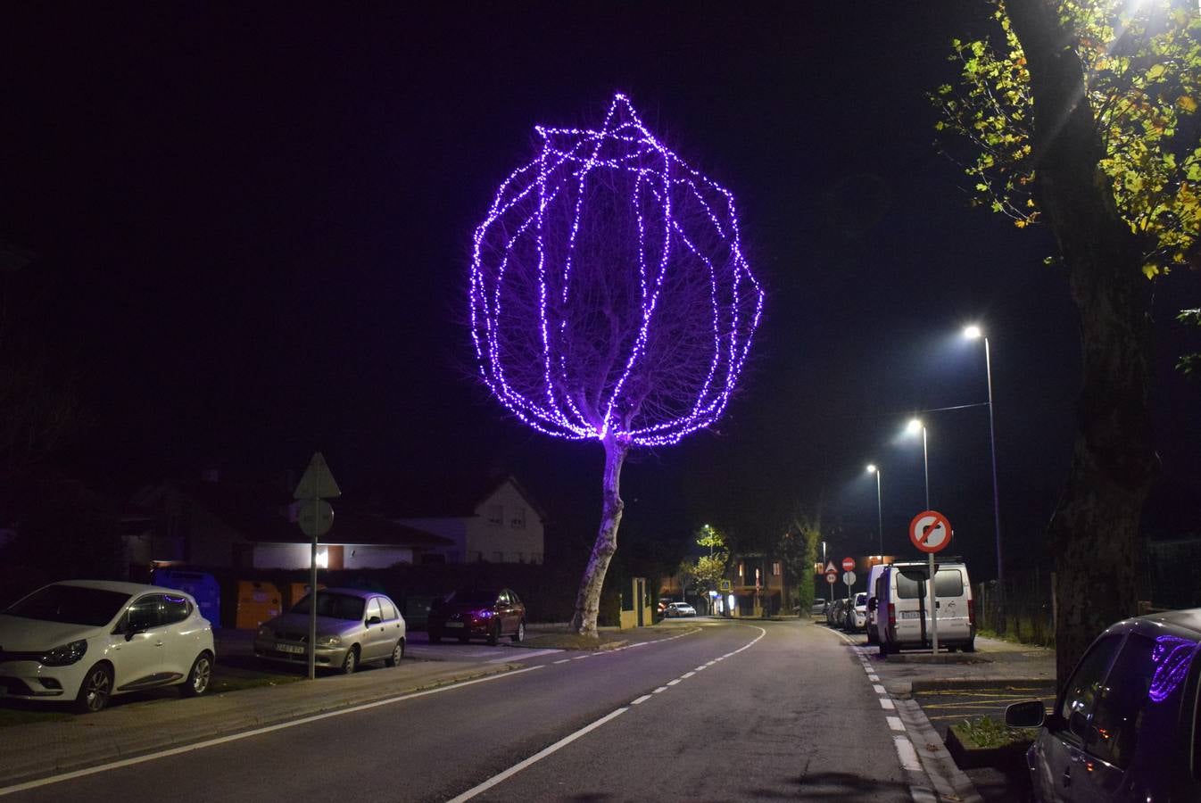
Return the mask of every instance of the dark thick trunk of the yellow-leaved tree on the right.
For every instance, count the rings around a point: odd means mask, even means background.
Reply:
[[[1072,32],[1047,0],[1008,0],[1034,98],[1035,190],[1080,314],[1083,384],[1071,468],[1048,535],[1058,577],[1056,673],[1135,613],[1139,522],[1155,472],[1152,330],[1139,239],[1098,169],[1104,146]]]

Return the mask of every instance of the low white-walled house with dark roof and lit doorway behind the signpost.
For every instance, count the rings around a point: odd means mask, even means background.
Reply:
[[[297,525],[299,503],[286,483],[157,483],[135,497],[125,517],[130,561],[144,567],[303,569],[311,539]],[[317,564],[328,569],[381,569],[420,563],[449,539],[334,502],[334,527],[321,537]]]

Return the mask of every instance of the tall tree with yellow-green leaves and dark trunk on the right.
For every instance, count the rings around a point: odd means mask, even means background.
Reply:
[[[1143,277],[1201,265],[1201,16],[1183,0],[994,5],[994,37],[954,41],[960,80],[932,97],[944,142],[970,145],[974,202],[1050,226],[1080,313],[1080,429],[1050,526],[1062,678],[1135,607],[1155,465]]]

